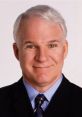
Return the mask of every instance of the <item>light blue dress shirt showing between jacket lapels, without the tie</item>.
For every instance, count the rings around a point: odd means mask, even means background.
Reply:
[[[61,76],[56,83],[49,88],[47,91],[45,91],[44,96],[46,97],[46,101],[44,101],[44,103],[42,104],[42,109],[45,110],[46,107],[48,106],[52,96],[55,94],[56,90],[58,89],[58,87],[60,86],[61,82],[62,82],[63,77]],[[25,79],[23,79],[23,83],[25,85],[26,91],[28,92],[28,96],[30,98],[31,104],[32,104],[32,108],[35,108],[35,97],[40,94],[36,89],[34,89],[29,83],[28,81],[26,81]]]

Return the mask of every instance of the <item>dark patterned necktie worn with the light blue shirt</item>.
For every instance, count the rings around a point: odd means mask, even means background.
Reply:
[[[43,94],[39,94],[35,98],[35,117],[43,117],[43,110],[41,108],[41,105],[46,100],[45,96]]]

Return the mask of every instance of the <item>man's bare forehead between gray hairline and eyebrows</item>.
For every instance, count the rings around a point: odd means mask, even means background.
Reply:
[[[22,41],[44,42],[63,37],[60,24],[39,17],[23,20],[19,32]]]

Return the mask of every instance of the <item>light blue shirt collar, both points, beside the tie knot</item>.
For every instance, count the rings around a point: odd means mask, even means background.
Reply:
[[[48,89],[43,93],[48,101],[50,101],[52,96],[55,94],[56,90],[58,89],[59,85],[62,82],[62,79],[63,79],[63,76],[61,75],[61,77],[56,81],[56,83],[50,89]],[[39,92],[36,89],[34,89],[25,79],[23,79],[23,83],[28,92],[28,96],[30,100],[33,101],[35,97],[39,94]]]

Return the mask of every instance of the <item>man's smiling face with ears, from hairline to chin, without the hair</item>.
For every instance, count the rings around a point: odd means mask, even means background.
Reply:
[[[34,17],[23,22],[14,52],[24,78],[34,87],[50,87],[60,77],[67,42],[59,24]]]

